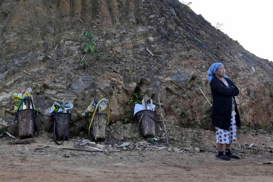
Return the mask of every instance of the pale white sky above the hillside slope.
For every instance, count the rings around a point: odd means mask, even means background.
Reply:
[[[224,23],[222,32],[237,40],[246,50],[258,57],[273,61],[271,0],[179,0],[192,2],[191,9],[201,14],[212,26]]]

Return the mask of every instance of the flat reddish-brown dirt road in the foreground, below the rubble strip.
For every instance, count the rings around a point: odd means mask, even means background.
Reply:
[[[56,149],[36,153],[1,155],[0,181],[219,181],[219,174],[221,181],[273,181],[273,165],[256,164],[272,160],[272,155],[221,161],[213,153],[168,151],[90,154]]]

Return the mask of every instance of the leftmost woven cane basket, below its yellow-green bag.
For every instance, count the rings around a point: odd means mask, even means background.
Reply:
[[[22,109],[17,111],[17,126],[19,137],[33,137],[34,120],[37,111],[34,109]]]

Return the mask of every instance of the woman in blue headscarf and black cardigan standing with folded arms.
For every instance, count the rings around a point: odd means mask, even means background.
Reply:
[[[216,128],[218,154],[216,158],[230,160],[239,159],[230,151],[231,143],[236,143],[236,126],[241,125],[235,96],[239,94],[237,86],[228,79],[222,63],[213,63],[208,69],[208,80],[213,98],[212,123]],[[226,144],[226,153],[223,145]]]

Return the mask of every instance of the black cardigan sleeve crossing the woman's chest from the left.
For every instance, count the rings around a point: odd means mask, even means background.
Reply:
[[[217,81],[210,82],[211,90],[214,90],[226,96],[231,96],[231,97],[237,96],[239,94],[239,89],[234,84],[232,86],[234,86],[234,88],[231,86],[230,87],[222,86],[222,84]]]

